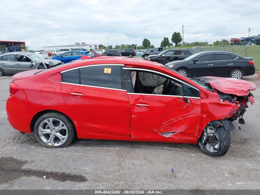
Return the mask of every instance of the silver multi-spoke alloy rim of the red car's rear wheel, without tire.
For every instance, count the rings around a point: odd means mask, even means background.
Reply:
[[[41,122],[38,128],[40,139],[47,145],[59,146],[68,138],[68,129],[59,119],[47,118]]]

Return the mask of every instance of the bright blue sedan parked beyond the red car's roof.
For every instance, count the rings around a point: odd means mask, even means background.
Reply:
[[[55,56],[52,59],[57,59],[62,61],[63,63],[68,63],[76,59],[81,59],[81,55],[87,55],[91,56],[91,58],[94,58],[94,55],[86,54],[86,51],[68,51],[61,55]]]

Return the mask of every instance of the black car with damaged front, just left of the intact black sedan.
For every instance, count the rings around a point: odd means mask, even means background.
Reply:
[[[192,53],[188,49],[170,49],[162,51],[157,55],[149,55],[147,60],[166,64],[175,60],[185,59],[190,55],[192,55]]]

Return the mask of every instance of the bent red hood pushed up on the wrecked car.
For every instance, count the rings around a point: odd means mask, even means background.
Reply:
[[[214,76],[200,77],[203,81],[210,84],[211,87],[227,94],[237,96],[247,96],[250,91],[256,89],[256,85],[250,81],[233,78],[222,78]]]

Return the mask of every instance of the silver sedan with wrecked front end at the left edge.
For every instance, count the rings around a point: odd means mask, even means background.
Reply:
[[[63,64],[55,59],[43,59],[30,52],[10,52],[0,55],[0,76],[14,75],[18,72],[46,69]]]

